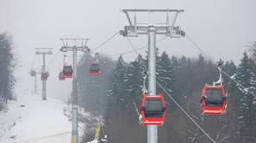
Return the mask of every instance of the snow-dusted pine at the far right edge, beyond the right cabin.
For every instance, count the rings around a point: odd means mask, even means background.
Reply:
[[[239,86],[241,91],[240,99],[240,116],[238,117],[239,121],[239,131],[240,141],[241,142],[255,142],[256,138],[255,124],[256,124],[256,112],[255,110],[255,98],[247,91],[254,92],[256,85],[256,76],[253,74],[252,60],[247,56],[247,52],[244,52],[244,57],[240,60],[239,67],[234,76],[234,80],[240,82],[243,89]]]

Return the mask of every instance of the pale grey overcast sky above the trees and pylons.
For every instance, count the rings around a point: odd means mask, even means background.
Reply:
[[[88,45],[93,49],[128,24],[120,9],[184,9],[177,24],[203,51],[214,60],[222,57],[239,63],[246,45],[256,40],[255,6],[255,0],[0,0],[0,33],[8,32],[14,37],[20,63],[17,92],[25,92],[33,89],[28,69],[34,48],[53,48],[54,56],[61,46],[60,38],[90,38]],[[161,21],[159,17],[157,20]],[[131,40],[136,47],[147,45],[143,35]],[[177,56],[195,57],[200,53],[188,39],[165,39],[158,46],[160,51]],[[127,39],[120,35],[98,49],[111,55],[130,50]],[[53,56],[47,57],[47,61]],[[134,53],[124,56],[127,61],[134,57]],[[41,68],[41,58],[35,57],[34,68]],[[66,98],[71,90],[71,81],[58,80],[61,66],[59,53],[49,66],[49,97]]]

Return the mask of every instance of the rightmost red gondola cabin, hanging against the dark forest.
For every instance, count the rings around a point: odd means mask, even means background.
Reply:
[[[205,84],[201,101],[204,115],[222,115],[226,112],[227,96],[222,84],[219,86]]]

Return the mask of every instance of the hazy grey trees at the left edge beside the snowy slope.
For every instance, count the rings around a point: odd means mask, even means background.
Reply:
[[[16,78],[16,59],[12,39],[7,33],[0,34],[0,110],[12,99]]]

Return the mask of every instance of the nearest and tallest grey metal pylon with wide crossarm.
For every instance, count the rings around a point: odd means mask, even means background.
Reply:
[[[148,36],[148,96],[156,95],[156,35],[164,34],[170,38],[184,37],[184,32],[175,27],[174,24],[180,12],[184,12],[183,9],[122,9],[122,12],[128,18],[128,26],[124,27],[124,30],[120,31],[122,36],[138,37],[139,34],[147,34]],[[130,18],[129,13],[134,13],[134,21]],[[162,24],[155,24],[150,22],[137,23],[136,13],[166,13],[166,22]],[[174,13],[172,22],[169,20],[169,13]],[[158,126],[147,125],[147,143],[158,142]]]

